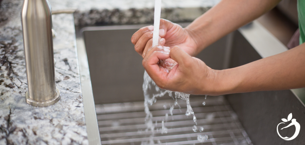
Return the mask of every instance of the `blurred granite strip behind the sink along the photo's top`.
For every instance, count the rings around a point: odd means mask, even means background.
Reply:
[[[49,0],[51,4],[77,8],[75,25],[153,23],[154,0]],[[220,0],[162,0],[161,18],[173,22],[196,19]],[[56,8],[56,9],[57,9]]]

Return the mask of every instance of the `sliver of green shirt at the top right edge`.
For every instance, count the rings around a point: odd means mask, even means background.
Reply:
[[[305,42],[305,0],[298,0],[298,18],[300,28],[300,45]]]

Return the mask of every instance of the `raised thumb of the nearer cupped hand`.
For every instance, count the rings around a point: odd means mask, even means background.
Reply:
[[[175,60],[179,65],[189,64],[188,62],[192,60],[192,57],[178,46],[170,49],[170,58]]]

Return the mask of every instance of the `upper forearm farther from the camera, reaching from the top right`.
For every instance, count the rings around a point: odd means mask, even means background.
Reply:
[[[222,0],[185,29],[197,43],[197,54],[221,37],[272,9],[280,0]]]

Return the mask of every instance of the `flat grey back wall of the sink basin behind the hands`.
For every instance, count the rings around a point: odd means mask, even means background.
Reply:
[[[93,96],[96,96],[95,104],[144,101],[143,59],[135,52],[130,40],[132,34],[142,26],[103,26],[82,29]],[[197,57],[210,67],[221,69],[225,41],[226,38],[221,39]]]

